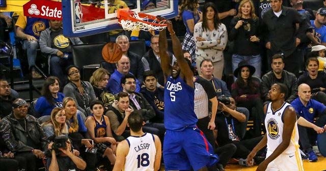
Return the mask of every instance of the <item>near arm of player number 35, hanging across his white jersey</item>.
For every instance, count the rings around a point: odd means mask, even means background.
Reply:
[[[285,109],[283,114],[283,134],[282,134],[282,142],[281,144],[275,149],[273,153],[269,157],[267,157],[263,162],[261,162],[257,168],[257,170],[265,170],[267,165],[277,158],[280,154],[284,152],[290,145],[291,135],[293,132],[293,128],[296,122],[296,113],[292,106],[289,106]]]

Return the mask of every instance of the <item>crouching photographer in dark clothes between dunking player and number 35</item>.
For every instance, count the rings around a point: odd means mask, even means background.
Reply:
[[[216,129],[218,129],[218,143],[220,146],[229,143],[234,144],[237,147],[237,150],[233,157],[245,159],[262,139],[262,136],[242,140],[242,138],[237,135],[237,132],[241,131],[238,130],[238,125],[240,122],[246,121],[246,116],[235,110],[235,100],[232,97],[222,95],[218,100],[219,110],[221,110],[216,115],[215,120]]]

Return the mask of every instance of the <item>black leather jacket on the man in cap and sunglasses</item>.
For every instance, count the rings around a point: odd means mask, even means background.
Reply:
[[[12,152],[31,152],[33,149],[41,151],[46,147],[46,135],[43,128],[37,122],[37,119],[31,115],[25,117],[26,128],[22,128],[13,113],[6,116],[0,122],[0,132],[8,149]],[[30,147],[27,144],[34,144]]]

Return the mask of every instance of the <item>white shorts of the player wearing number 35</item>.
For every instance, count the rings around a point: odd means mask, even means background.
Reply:
[[[271,155],[271,151],[267,150],[266,158]],[[280,154],[276,159],[271,161],[266,170],[276,171],[276,170],[293,170],[293,171],[303,171],[304,166],[302,164],[301,154],[299,150],[291,154]]]

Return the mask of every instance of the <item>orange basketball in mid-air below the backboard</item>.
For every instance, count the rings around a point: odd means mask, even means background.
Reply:
[[[117,43],[109,42],[102,49],[103,59],[108,63],[116,63],[121,59],[122,51]]]

